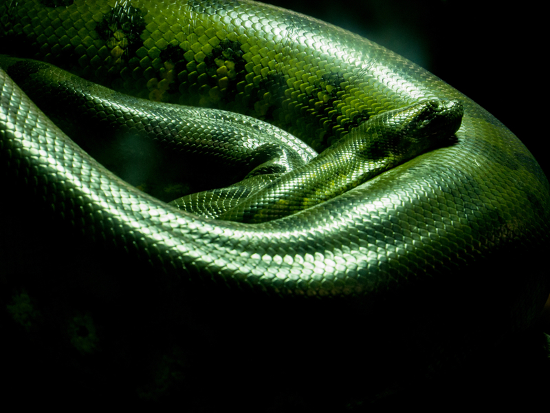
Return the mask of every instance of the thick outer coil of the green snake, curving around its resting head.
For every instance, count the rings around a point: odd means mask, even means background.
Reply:
[[[181,294],[252,297],[258,307],[241,309],[281,332],[274,339],[265,327],[259,337],[311,346],[311,359],[297,356],[308,377],[345,376],[351,367],[340,356],[350,348],[352,370],[386,379],[391,363],[407,371],[452,365],[456,354],[527,328],[544,303],[547,178],[502,123],[401,56],[251,1],[8,0],[0,14],[5,54],[134,96],[261,118],[316,150],[376,114],[426,99],[461,101],[452,145],[300,213],[243,224],[182,213],[126,184],[2,73],[1,162],[12,179],[91,244],[129,251]],[[445,307],[453,301],[460,309]],[[452,328],[434,310],[441,306]],[[507,317],[489,323],[495,306]],[[281,319],[285,328],[276,327]],[[410,339],[397,356],[392,343],[401,335]],[[312,344],[321,341],[329,352]],[[329,354],[338,360],[330,367],[313,361]],[[369,380],[340,386],[361,394]]]

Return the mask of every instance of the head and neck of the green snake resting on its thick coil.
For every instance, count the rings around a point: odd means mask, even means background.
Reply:
[[[271,221],[335,198],[438,144],[449,143],[444,139],[459,129],[462,115],[458,100],[429,100],[373,116],[219,219],[251,224]]]

